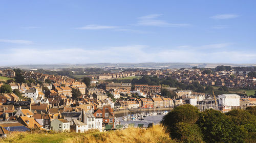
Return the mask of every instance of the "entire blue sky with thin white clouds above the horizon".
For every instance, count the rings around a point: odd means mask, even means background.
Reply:
[[[0,66],[255,64],[256,1],[0,0]]]

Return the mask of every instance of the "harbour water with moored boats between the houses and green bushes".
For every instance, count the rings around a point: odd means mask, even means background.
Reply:
[[[147,116],[147,117],[144,117],[144,120],[136,119],[133,121],[122,121],[122,117],[119,117],[118,120],[122,125],[133,123],[135,124],[136,127],[138,126],[138,124],[144,124],[144,127],[147,127],[149,123],[154,123],[154,124],[160,123],[163,117],[164,115]]]

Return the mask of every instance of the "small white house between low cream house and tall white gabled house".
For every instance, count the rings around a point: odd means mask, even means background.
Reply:
[[[82,123],[79,120],[72,120],[70,124],[70,129],[73,132],[83,133],[89,130],[88,125],[86,123]]]

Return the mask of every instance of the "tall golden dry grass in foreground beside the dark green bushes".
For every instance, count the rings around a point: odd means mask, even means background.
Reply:
[[[175,142],[168,133],[165,133],[163,126],[155,125],[153,128],[128,128],[122,131],[110,132],[94,132],[79,136],[73,139],[67,139],[66,143],[79,143],[79,142]]]

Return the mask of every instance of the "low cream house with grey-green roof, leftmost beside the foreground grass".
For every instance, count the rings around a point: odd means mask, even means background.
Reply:
[[[70,122],[65,119],[54,119],[51,121],[51,130],[53,131],[70,131]]]

